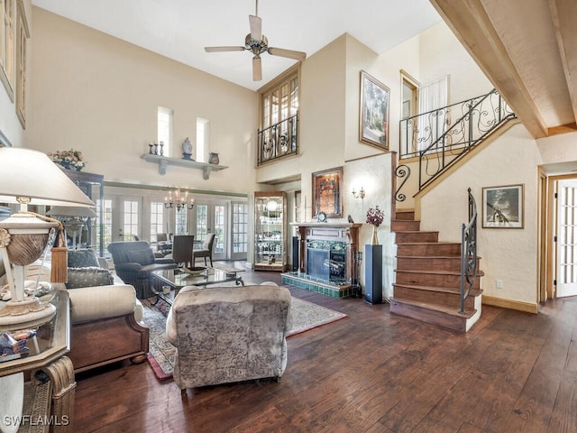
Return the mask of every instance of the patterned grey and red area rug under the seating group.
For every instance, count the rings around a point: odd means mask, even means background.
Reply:
[[[142,299],[144,309],[143,321],[150,328],[150,344],[148,362],[160,381],[172,378],[175,348],[166,339],[166,314],[169,306],[156,298]],[[346,314],[326,309],[307,300],[292,297],[290,304],[292,327],[287,336],[295,336],[315,327],[346,318]]]

